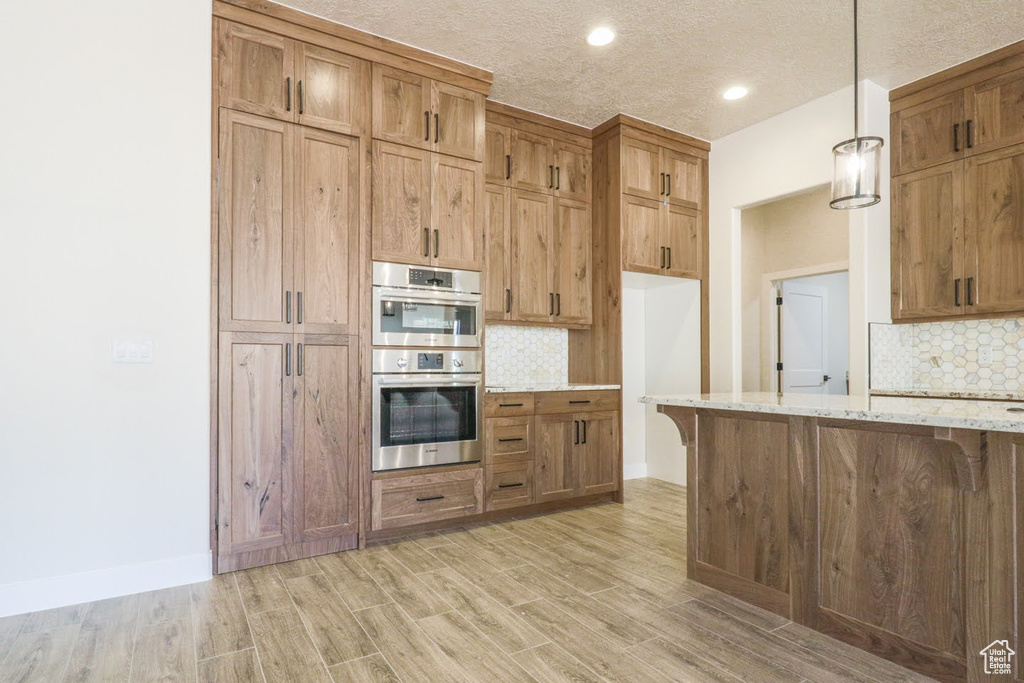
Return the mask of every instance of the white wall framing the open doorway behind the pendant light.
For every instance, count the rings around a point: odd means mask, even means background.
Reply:
[[[861,134],[886,139],[887,92],[861,85]],[[739,103],[739,105],[742,105]],[[712,143],[711,383],[714,391],[741,386],[742,302],[740,211],[831,182],[831,147],[853,136],[852,86],[744,128]],[[889,321],[889,186],[882,202],[850,212],[851,392],[867,389],[867,323]]]

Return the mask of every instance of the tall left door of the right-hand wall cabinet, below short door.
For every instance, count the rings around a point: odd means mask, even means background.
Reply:
[[[964,163],[893,182],[893,319],[963,312]]]

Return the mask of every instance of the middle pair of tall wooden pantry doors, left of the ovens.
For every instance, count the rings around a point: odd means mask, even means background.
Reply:
[[[355,333],[359,151],[354,137],[221,111],[221,330]]]

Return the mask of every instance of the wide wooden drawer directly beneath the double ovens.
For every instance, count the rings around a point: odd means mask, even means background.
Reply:
[[[374,530],[483,512],[483,469],[375,479]]]

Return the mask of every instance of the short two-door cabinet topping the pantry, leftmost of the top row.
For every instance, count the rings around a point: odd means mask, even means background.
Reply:
[[[222,19],[217,58],[221,106],[348,135],[367,132],[368,61]]]

